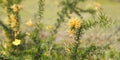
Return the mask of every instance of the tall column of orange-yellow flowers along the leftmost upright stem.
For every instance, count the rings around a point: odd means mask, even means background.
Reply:
[[[10,4],[11,1],[3,0],[5,13],[7,13],[6,24],[11,27],[13,31],[19,30],[19,11],[22,8],[20,4]]]

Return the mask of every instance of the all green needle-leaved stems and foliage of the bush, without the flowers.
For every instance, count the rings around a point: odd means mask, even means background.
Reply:
[[[15,17],[18,19],[17,28],[19,34],[15,36],[16,31],[0,20],[0,26],[2,26],[4,31],[6,31],[6,35],[8,37],[8,41],[4,40],[0,45],[0,60],[119,60],[120,52],[110,48],[110,44],[105,44],[105,46],[97,46],[94,44],[85,47],[82,46],[80,41],[86,30],[89,30],[95,26],[101,28],[108,27],[111,26],[111,23],[113,23],[112,19],[109,19],[105,14],[103,14],[103,12],[98,11],[100,14],[95,16],[95,10],[85,10],[77,6],[80,2],[85,2],[86,0],[60,1],[61,11],[57,12],[57,22],[55,22],[54,28],[47,32],[46,35],[42,34],[46,30],[44,29],[45,25],[41,22],[44,16],[45,0],[38,1],[39,21],[33,25],[34,28],[30,31],[29,34],[26,34],[26,31],[23,32],[19,30],[21,24],[19,12],[15,13],[11,9],[13,4],[20,4],[23,0],[7,1],[8,4],[3,5],[3,8],[7,7],[8,9],[7,17],[9,17],[9,14],[11,13],[15,14]],[[96,18],[83,20],[81,13],[86,12],[91,13]],[[56,43],[56,36],[59,32],[58,29],[61,27],[61,24],[65,22],[66,18],[72,18],[70,14],[73,13],[81,19],[80,27],[72,28],[75,32],[74,36],[71,37],[73,38],[73,42],[70,42],[70,44],[69,42],[62,42],[62,44],[59,45]],[[18,39],[18,41],[20,40],[19,45],[13,44],[15,39]]]

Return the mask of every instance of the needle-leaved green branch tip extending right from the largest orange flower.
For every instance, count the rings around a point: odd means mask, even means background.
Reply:
[[[106,17],[103,13],[100,13],[98,20],[87,20],[83,21],[82,23],[82,29],[87,30],[93,26],[99,25],[102,27],[107,27],[109,25],[112,25],[114,23],[110,18]]]

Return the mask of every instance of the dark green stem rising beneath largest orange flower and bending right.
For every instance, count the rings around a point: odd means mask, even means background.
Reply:
[[[78,57],[77,50],[78,50],[78,47],[79,47],[79,44],[80,44],[79,43],[80,37],[83,34],[82,32],[84,30],[88,30],[89,28],[94,27],[96,25],[100,25],[101,26],[101,24],[102,24],[102,26],[106,26],[108,23],[110,23],[110,20],[105,15],[103,15],[102,13],[99,15],[99,20],[87,20],[87,21],[83,21],[82,22],[81,27],[78,28],[76,30],[76,32],[75,32],[74,40],[77,43],[74,43],[74,46],[72,48],[72,53],[71,53],[72,55],[71,55],[71,57],[72,57],[73,60],[76,60],[77,57]],[[84,55],[83,55],[83,57],[84,57]]]

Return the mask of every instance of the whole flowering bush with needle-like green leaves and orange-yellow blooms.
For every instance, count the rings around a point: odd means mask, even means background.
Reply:
[[[93,1],[94,3],[90,6],[81,7],[81,3],[88,0],[56,1],[60,11],[56,12],[55,23],[46,27],[42,22],[43,18],[47,17],[44,16],[46,1],[38,0],[38,11],[34,18],[37,22],[33,23],[34,20],[30,19],[25,23],[26,28],[31,28],[28,32],[21,28],[23,19],[21,19],[20,11],[24,9],[21,4],[24,0],[0,0],[0,7],[4,11],[5,18],[0,18],[0,31],[3,33],[3,37],[0,37],[0,60],[120,59],[120,51],[114,49],[111,41],[103,45],[97,45],[94,42],[83,44],[82,37],[89,29],[94,27],[108,29],[115,24],[113,19],[105,15],[100,3]],[[89,13],[91,17],[85,19],[84,13]],[[62,29],[64,41],[61,40],[61,44],[58,44],[59,41],[56,42],[56,39],[61,37],[58,32],[62,26],[67,29]],[[119,30],[120,28],[117,28],[106,39],[110,40]]]

